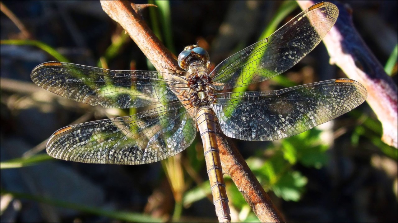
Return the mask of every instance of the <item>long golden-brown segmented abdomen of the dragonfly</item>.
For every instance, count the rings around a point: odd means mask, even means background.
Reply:
[[[209,175],[213,204],[216,207],[217,217],[219,218],[219,222],[230,222],[228,197],[225,191],[220,152],[216,141],[215,113],[210,107],[203,106],[197,112],[196,121],[203,142],[207,174]]]

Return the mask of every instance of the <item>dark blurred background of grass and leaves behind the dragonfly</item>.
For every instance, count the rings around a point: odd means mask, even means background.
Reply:
[[[397,81],[397,1],[341,1],[379,62]],[[136,4],[148,3],[137,1]],[[178,55],[207,49],[213,65],[273,33],[302,10],[294,1],[163,1],[142,11]],[[72,123],[126,115],[66,100],[37,87],[47,61],[150,70],[137,45],[99,1],[2,1],[0,154],[2,222],[217,221],[197,136],[175,158],[146,165],[56,160],[45,143]],[[390,59],[391,60],[391,59]],[[276,90],[345,78],[323,43],[292,69],[248,90]],[[380,140],[365,102],[302,134],[271,142],[231,139],[287,221],[396,222],[397,150]],[[258,222],[225,176],[233,221]]]

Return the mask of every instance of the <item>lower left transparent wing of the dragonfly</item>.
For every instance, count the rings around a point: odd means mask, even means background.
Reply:
[[[180,102],[173,102],[132,116],[64,127],[50,137],[46,150],[54,158],[83,163],[152,163],[178,154],[195,135],[195,122]]]

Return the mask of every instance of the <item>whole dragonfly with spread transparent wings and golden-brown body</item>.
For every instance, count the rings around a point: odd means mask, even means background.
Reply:
[[[265,81],[293,67],[319,44],[337,17],[334,4],[314,4],[213,70],[205,49],[187,46],[178,56],[183,75],[42,63],[33,69],[31,79],[55,94],[104,108],[148,107],[130,116],[59,129],[49,138],[47,153],[84,163],[152,163],[183,151],[199,131],[216,214],[219,222],[230,222],[215,139],[217,125],[231,138],[277,140],[330,121],[366,100],[366,89],[351,79],[282,90],[229,90]]]

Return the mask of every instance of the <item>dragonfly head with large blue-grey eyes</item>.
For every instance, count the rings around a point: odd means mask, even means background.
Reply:
[[[189,45],[178,55],[178,65],[187,70],[191,64],[203,64],[210,66],[209,54],[197,45]]]

